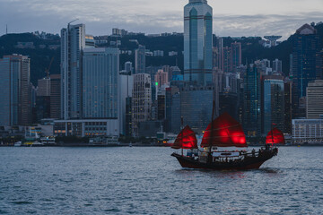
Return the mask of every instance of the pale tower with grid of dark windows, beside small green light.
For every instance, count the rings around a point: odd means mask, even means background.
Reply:
[[[132,91],[132,130],[138,135],[138,123],[148,121],[152,114],[151,76],[147,73],[134,74]]]

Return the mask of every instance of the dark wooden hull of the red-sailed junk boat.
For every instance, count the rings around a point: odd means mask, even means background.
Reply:
[[[245,156],[244,159],[236,160],[233,162],[200,162],[199,160],[192,159],[186,156],[181,156],[177,153],[172,153],[171,156],[179,160],[179,164],[183,168],[201,168],[211,170],[247,170],[257,169],[268,159],[277,155],[278,150],[264,150],[256,156]]]

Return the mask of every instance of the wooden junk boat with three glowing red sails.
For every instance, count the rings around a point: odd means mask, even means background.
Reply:
[[[266,136],[266,146],[256,150],[217,150],[217,147],[248,147],[242,126],[229,114],[214,119],[207,126],[199,150],[196,133],[187,125],[176,138],[173,149],[181,149],[181,154],[171,156],[179,160],[183,168],[201,168],[212,170],[244,170],[255,169],[268,159],[277,155],[275,144],[284,144],[284,133],[277,128]],[[183,150],[188,150],[187,156]]]

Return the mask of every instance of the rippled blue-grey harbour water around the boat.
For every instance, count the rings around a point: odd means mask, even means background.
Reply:
[[[0,214],[323,214],[323,147],[257,170],[184,169],[161,147],[0,148]]]

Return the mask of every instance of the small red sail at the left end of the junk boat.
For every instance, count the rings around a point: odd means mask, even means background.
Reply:
[[[187,125],[176,138],[174,145],[171,147],[173,149],[197,149],[197,139],[196,134]]]

